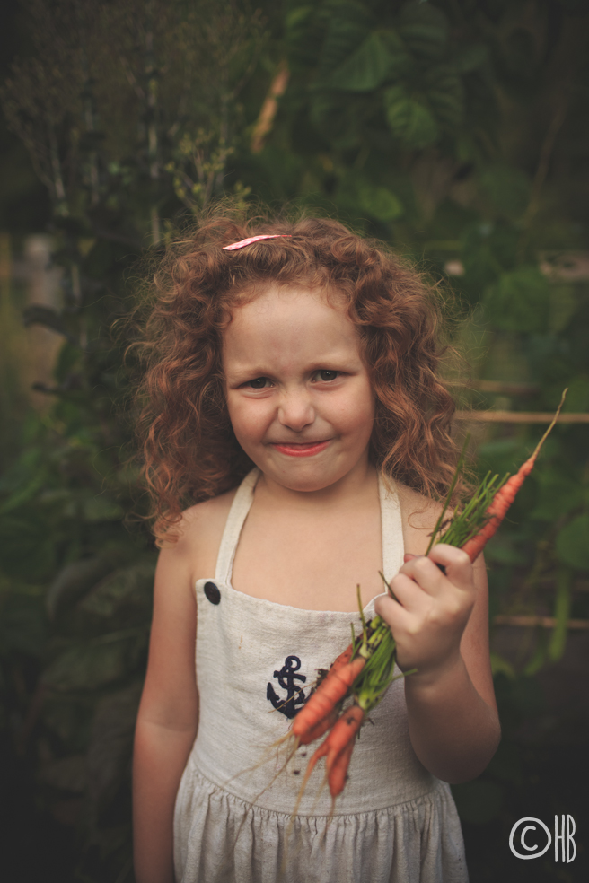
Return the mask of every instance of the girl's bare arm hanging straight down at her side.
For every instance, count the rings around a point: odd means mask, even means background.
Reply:
[[[173,811],[197,734],[196,600],[180,538],[155,572],[154,618],[133,757],[136,883],[173,883]]]

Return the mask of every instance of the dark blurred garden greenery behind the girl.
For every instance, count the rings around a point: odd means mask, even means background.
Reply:
[[[338,216],[447,294],[488,546],[504,739],[456,787],[472,883],[587,869],[589,9],[584,0],[4,0],[0,875],[131,883],[154,545],[113,322],[218,197]],[[520,861],[520,817],[576,858]]]

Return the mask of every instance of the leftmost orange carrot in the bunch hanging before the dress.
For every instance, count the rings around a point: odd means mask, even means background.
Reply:
[[[350,644],[343,653],[340,653],[327,677],[321,681],[296,715],[292,732],[303,744],[318,739],[329,728],[328,724],[325,729],[317,731],[320,730],[319,725],[330,718],[334,709],[345,698],[350,686],[364,668],[366,661],[364,657],[356,656],[355,660],[351,660],[352,653],[353,647]]]

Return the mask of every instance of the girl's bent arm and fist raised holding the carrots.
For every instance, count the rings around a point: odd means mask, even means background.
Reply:
[[[405,681],[411,744],[430,773],[468,782],[488,765],[501,735],[482,555],[473,566],[461,549],[439,544],[427,558],[411,557],[391,589],[398,600],[377,599],[376,608],[391,626],[400,669],[418,669]]]

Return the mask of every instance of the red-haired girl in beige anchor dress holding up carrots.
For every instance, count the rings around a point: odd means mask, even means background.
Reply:
[[[462,883],[447,782],[484,769],[499,725],[484,564],[424,556],[455,461],[432,293],[314,219],[210,221],[156,290],[137,883]],[[359,631],[358,583],[417,673],[371,713],[334,816],[318,769],[291,821],[307,749],[282,772],[265,751]]]

